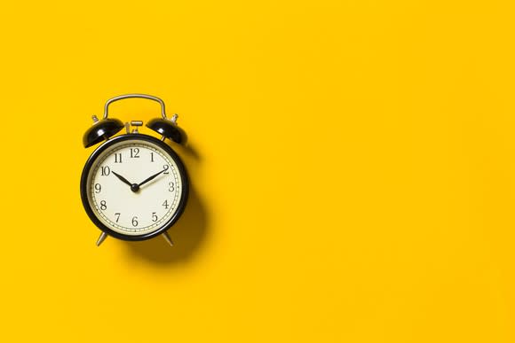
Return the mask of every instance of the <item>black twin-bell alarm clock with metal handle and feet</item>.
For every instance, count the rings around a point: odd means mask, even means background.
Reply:
[[[161,105],[161,117],[147,122],[147,128],[161,139],[139,133],[143,121],[123,124],[109,118],[109,105],[133,97]],[[86,161],[80,189],[86,214],[102,231],[97,246],[107,236],[135,241],[159,235],[173,246],[168,230],[184,212],[189,188],[184,164],[165,143],[166,139],[172,144],[186,142],[186,134],[177,124],[178,115],[168,119],[159,97],[126,94],[107,100],[103,118],[93,115],[92,119],[83,145],[101,144]],[[115,136],[124,128],[123,135]]]

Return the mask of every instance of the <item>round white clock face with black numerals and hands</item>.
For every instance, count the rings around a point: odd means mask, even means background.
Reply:
[[[145,235],[162,228],[178,211],[183,191],[176,162],[159,145],[123,140],[92,163],[87,196],[93,214],[123,235]]]

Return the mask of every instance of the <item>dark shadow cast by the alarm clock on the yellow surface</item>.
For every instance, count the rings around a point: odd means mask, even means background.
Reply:
[[[190,184],[189,197],[184,213],[168,233],[174,246],[162,236],[144,241],[126,242],[129,252],[157,265],[171,265],[190,260],[202,246],[207,236],[208,214],[197,192]]]

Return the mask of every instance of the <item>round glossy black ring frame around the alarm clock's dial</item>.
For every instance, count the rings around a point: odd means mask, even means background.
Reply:
[[[162,148],[165,152],[167,152],[171,159],[174,160],[174,162],[177,164],[178,167],[178,174],[181,177],[182,182],[182,194],[181,198],[178,201],[178,208],[175,214],[171,216],[171,218],[168,220],[168,222],[165,222],[162,227],[159,230],[155,230],[149,233],[146,233],[144,235],[124,235],[122,233],[116,232],[114,230],[109,229],[103,222],[100,222],[99,218],[94,214],[93,210],[91,209],[90,202],[88,201],[88,175],[90,173],[91,167],[93,166],[93,163],[97,158],[99,157],[99,154],[104,152],[107,148],[109,148],[111,145],[123,142],[123,141],[145,141],[149,143],[153,143],[158,145]],[[162,142],[161,140],[155,138],[154,136],[148,136],[145,134],[126,134],[122,136],[116,136],[115,138],[107,140],[104,144],[101,144],[93,153],[91,153],[90,158],[86,161],[86,164],[83,168],[83,174],[81,175],[81,199],[83,200],[83,207],[86,210],[86,213],[91,219],[91,222],[93,222],[100,230],[107,233],[107,235],[120,238],[123,240],[146,240],[150,238],[154,238],[156,236],[161,235],[166,230],[169,230],[175,222],[178,221],[178,218],[183,214],[184,209],[186,207],[187,199],[189,194],[189,181],[188,176],[186,174],[186,168],[184,167],[184,164],[182,163],[182,160],[178,157],[178,154],[171,149],[171,147]]]

